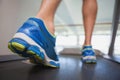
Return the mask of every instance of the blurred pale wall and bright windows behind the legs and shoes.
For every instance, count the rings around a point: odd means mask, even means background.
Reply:
[[[11,55],[8,41],[29,17],[34,17],[42,0],[0,0],[0,56]],[[98,15],[93,32],[92,44],[108,54],[115,0],[97,0]],[[84,41],[82,22],[82,0],[62,0],[56,15],[55,29],[57,51],[64,48],[80,48]],[[115,54],[120,53],[120,28],[115,41]]]

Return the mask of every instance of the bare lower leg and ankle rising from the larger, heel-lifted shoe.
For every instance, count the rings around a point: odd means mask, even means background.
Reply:
[[[61,0],[43,0],[40,10],[36,15],[44,21],[48,31],[54,35],[54,15]]]

